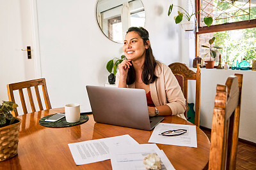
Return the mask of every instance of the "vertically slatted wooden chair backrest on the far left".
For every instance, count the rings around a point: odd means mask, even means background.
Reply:
[[[12,101],[13,103],[15,103],[13,91],[14,90],[19,90],[19,96],[20,96],[20,102],[22,104],[22,110],[23,110],[24,114],[28,113],[26,103],[25,103],[25,99],[24,99],[23,90],[22,90],[22,89],[27,89],[31,110],[33,112],[35,112],[36,111],[35,104],[34,104],[33,96],[32,96],[32,93],[31,93],[31,87],[35,87],[35,94],[36,94],[36,99],[37,99],[37,102],[38,102],[39,109],[44,110],[44,108],[42,106],[40,93],[39,93],[39,90],[38,90],[38,85],[42,85],[42,91],[43,91],[43,94],[44,94],[44,101],[45,101],[46,109],[47,110],[51,109],[52,107],[51,107],[50,99],[49,99],[48,92],[47,92],[45,78],[40,78],[40,79],[36,79],[36,80],[29,80],[29,81],[22,81],[22,82],[19,82],[19,83],[12,83],[12,84],[7,85],[9,101]],[[18,111],[13,111],[12,114],[13,114],[13,116],[17,117],[18,116]]]

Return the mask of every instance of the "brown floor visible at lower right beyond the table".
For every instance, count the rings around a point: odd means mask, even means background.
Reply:
[[[211,132],[202,129],[211,139]],[[238,142],[236,169],[256,169],[256,146],[244,142]]]

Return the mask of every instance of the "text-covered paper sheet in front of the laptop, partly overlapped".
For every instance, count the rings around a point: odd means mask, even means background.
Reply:
[[[77,165],[110,159],[109,147],[125,146],[131,148],[132,145],[139,145],[139,143],[128,134],[68,144]]]

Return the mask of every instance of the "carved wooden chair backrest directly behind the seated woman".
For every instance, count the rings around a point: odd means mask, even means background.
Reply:
[[[188,80],[196,81],[196,99],[195,99],[195,125],[199,127],[200,125],[200,91],[201,91],[201,69],[200,64],[196,64],[196,73],[189,69],[188,66],[180,62],[174,62],[169,65],[172,73],[177,78],[181,90],[186,99],[186,108],[187,110],[184,113],[184,116],[187,118],[188,113]],[[191,108],[193,109],[193,108]]]

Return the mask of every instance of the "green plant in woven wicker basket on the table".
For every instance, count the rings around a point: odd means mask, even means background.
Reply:
[[[17,106],[10,101],[0,104],[0,161],[17,155],[20,119],[14,118],[11,113]]]

